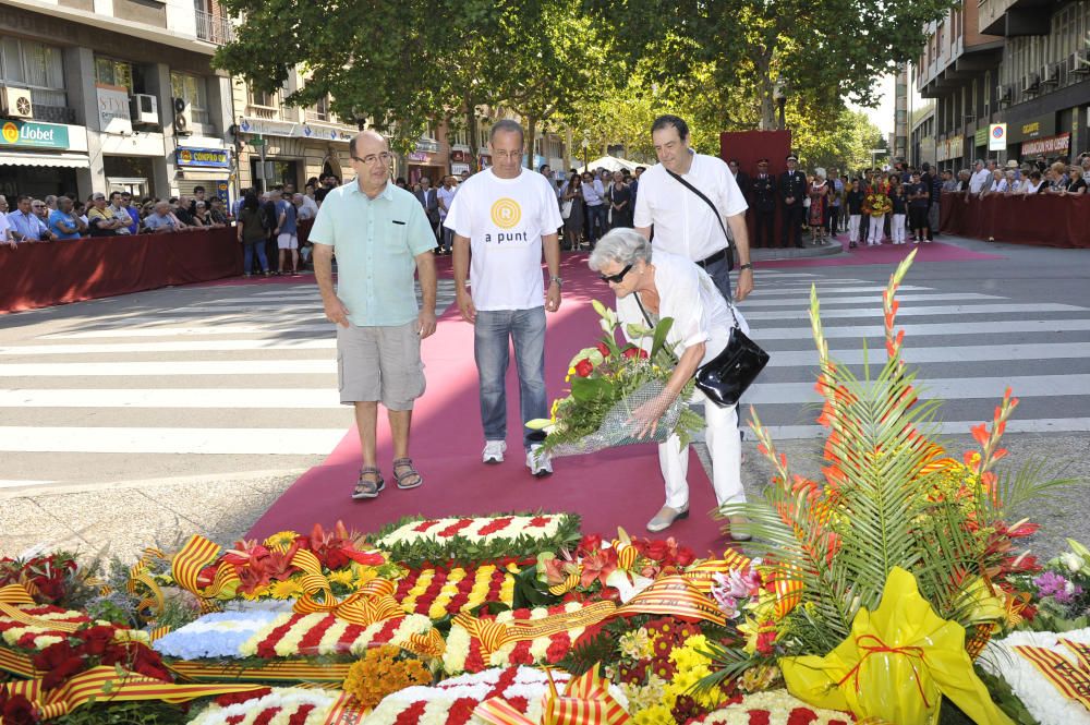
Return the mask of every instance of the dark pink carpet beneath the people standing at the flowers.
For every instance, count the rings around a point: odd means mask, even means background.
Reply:
[[[449,276],[450,257],[439,257],[439,274]],[[586,267],[585,254],[564,256],[564,304],[548,315],[545,380],[552,401],[565,390],[567,364],[601,334],[594,298],[613,306],[606,285]],[[513,354],[508,374],[507,460],[481,462],[484,446],[473,362],[473,328],[461,321],[455,305],[439,321],[438,330],[423,343],[427,391],[413,412],[410,455],[424,485],[399,491],[390,470],[392,451],[385,412],[379,410],[378,462],[386,491],[377,499],[350,498],[360,469],[360,443],[349,431],[320,464],[301,476],[249,532],[267,536],[292,529],[308,531],[314,523],[342,520],[350,529],[375,531],[404,516],[471,516],[544,509],[582,517],[584,532],[611,535],[623,527],[632,535],[649,535],[644,527],[664,502],[658,456],[653,444],[615,448],[590,456],[554,461],[555,473],[534,479],[525,468],[519,418]],[[708,512],[715,506],[712,484],[697,455],[689,464],[690,517],[667,534],[698,554],[722,554],[727,546],[718,522]],[[663,534],[663,535],[667,535]]]

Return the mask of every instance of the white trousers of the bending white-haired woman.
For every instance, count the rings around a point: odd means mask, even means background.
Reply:
[[[723,504],[746,500],[742,490],[742,443],[738,437],[737,406],[719,408],[699,390],[693,401],[704,401],[704,440],[712,458],[712,487],[715,499]],[[666,505],[682,509],[689,505],[689,446],[681,448],[673,435],[658,444],[658,464],[666,482]]]

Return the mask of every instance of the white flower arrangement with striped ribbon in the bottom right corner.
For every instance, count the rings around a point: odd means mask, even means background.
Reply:
[[[1014,650],[1017,645],[1039,647],[1074,662],[1074,653],[1059,638],[1090,644],[1090,628],[1059,633],[1014,632],[989,642],[978,662],[990,674],[1007,681],[1040,725],[1090,725],[1090,711],[1066,699],[1029,660]]]

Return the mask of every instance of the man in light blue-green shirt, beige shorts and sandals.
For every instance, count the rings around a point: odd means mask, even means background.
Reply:
[[[435,331],[435,233],[412,193],[390,183],[393,156],[383,135],[362,131],[349,153],[356,179],[325,195],[310,241],[326,317],[337,324],[341,402],[355,408],[363,468],[352,498],[362,499],[386,486],[376,464],[378,401],[390,421],[398,488],[423,483],[409,458],[409,426],[424,394],[420,342]]]

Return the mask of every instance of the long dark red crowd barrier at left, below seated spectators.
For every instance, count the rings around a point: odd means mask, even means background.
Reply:
[[[0,247],[0,312],[241,275],[235,234],[228,228]]]

